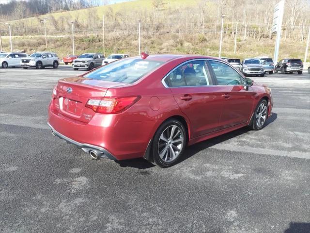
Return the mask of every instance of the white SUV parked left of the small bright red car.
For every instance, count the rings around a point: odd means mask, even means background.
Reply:
[[[35,52],[29,57],[21,59],[20,65],[24,69],[36,67],[42,69],[44,67],[57,68],[59,65],[59,57],[54,52]]]

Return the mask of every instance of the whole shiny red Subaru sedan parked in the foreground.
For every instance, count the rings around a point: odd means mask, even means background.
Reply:
[[[59,80],[48,125],[94,159],[143,157],[168,167],[186,145],[262,129],[272,106],[270,88],[223,60],[142,54]]]

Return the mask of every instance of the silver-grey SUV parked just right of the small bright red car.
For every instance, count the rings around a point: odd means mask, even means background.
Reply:
[[[73,60],[72,67],[74,70],[92,70],[95,67],[100,67],[104,58],[101,53],[84,53]]]

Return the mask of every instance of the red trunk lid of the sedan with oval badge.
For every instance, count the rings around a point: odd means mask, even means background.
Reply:
[[[95,112],[85,107],[87,101],[91,98],[100,99],[106,95],[109,88],[122,85],[126,85],[126,83],[81,77],[59,80],[57,85],[59,116],[88,123],[93,118]]]

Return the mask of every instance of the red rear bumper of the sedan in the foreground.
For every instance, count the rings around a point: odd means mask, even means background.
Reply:
[[[62,139],[78,148],[93,148],[108,158],[124,160],[143,157],[158,121],[129,122],[117,114],[95,114],[90,122],[77,122],[48,109],[48,125]],[[84,149],[83,149],[84,150]],[[85,150],[84,150],[85,151]],[[109,154],[109,156],[108,156]]]

